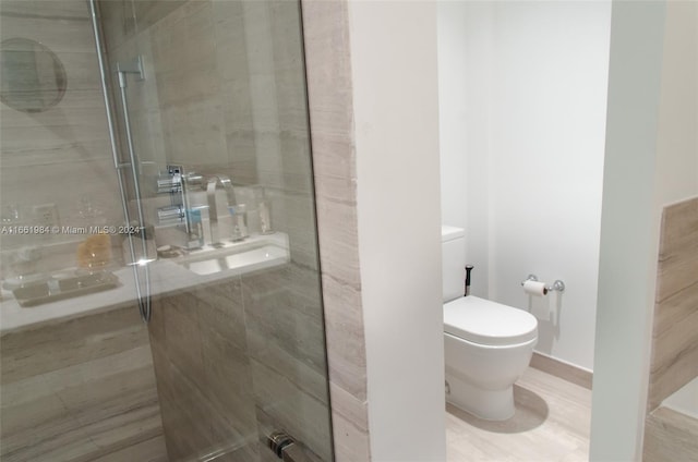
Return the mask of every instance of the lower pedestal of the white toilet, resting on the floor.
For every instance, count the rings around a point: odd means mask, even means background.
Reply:
[[[485,421],[506,421],[514,416],[514,386],[484,390],[446,374],[446,401]]]

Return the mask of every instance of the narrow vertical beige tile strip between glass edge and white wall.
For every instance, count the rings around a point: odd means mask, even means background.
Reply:
[[[335,454],[370,460],[347,2],[303,1]]]

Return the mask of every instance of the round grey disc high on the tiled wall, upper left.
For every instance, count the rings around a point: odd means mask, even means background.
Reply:
[[[28,38],[0,44],[0,100],[24,112],[41,112],[63,98],[65,68],[48,47]]]

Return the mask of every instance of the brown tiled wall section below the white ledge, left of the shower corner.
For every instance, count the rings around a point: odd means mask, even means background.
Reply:
[[[0,350],[3,461],[167,460],[135,307],[4,332]]]

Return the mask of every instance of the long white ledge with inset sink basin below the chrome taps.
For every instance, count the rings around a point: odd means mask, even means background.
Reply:
[[[273,268],[290,260],[288,236],[285,233],[252,236],[224,248],[204,247],[179,258],[163,258],[149,263],[153,297],[184,292],[251,271]],[[12,292],[2,291],[0,332],[2,335],[69,318],[96,314],[122,306],[135,309],[135,281],[130,267],[113,271],[120,285],[73,299],[58,300],[32,307],[22,307]]]

